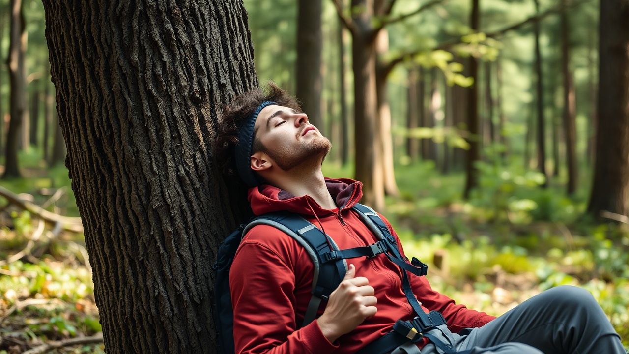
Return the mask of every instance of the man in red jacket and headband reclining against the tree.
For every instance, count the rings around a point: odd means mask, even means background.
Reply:
[[[253,214],[297,213],[339,249],[378,241],[351,209],[362,196],[360,182],[323,177],[330,141],[309,124],[294,98],[271,83],[268,93],[242,94],[223,113],[216,156],[250,187]],[[272,226],[253,227],[230,272],[237,353],[355,353],[399,319],[416,316],[402,287],[403,270],[380,255],[348,260],[345,278],[315,321],[300,328],[312,280],[313,262],[297,241]],[[393,353],[442,353],[439,343],[426,338],[430,333],[470,353],[626,353],[601,307],[581,288],[548,290],[496,319],[456,305],[426,277],[411,275],[409,281],[421,309],[440,312],[447,328],[424,334],[416,345],[388,349]]]

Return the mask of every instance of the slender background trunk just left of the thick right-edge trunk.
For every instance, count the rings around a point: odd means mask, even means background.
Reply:
[[[574,83],[572,82],[572,72],[570,71],[570,49],[569,49],[569,25],[565,0],[561,2],[561,67],[564,73],[564,134],[565,134],[565,157],[568,163],[568,195],[574,194],[577,190],[577,153],[576,153],[576,101]],[[629,21],[629,18],[625,20]]]

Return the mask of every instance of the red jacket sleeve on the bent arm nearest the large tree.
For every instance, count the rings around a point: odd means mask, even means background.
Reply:
[[[256,232],[275,240],[286,236],[274,227],[256,226],[234,258],[230,289],[236,353],[332,353],[337,346],[323,336],[316,320],[297,329],[296,262],[282,254],[291,246],[274,247],[256,237]]]

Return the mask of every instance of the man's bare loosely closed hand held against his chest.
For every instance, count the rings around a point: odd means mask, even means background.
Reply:
[[[356,268],[349,265],[345,278],[330,294],[328,305],[317,320],[321,332],[330,343],[351,332],[378,311],[374,288],[369,286],[367,278],[354,278],[355,274]]]

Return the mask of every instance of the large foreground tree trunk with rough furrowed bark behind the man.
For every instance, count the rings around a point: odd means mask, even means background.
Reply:
[[[242,1],[43,3],[106,351],[216,353],[212,265],[248,214],[211,155],[257,84]]]

